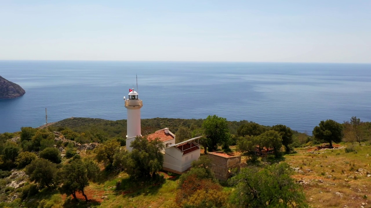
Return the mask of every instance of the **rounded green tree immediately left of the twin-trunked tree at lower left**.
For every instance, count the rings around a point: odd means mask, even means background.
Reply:
[[[37,158],[26,166],[26,174],[30,176],[31,181],[39,183],[40,186],[51,188],[54,186],[54,174],[56,172],[56,164]]]

